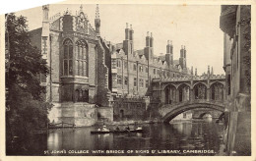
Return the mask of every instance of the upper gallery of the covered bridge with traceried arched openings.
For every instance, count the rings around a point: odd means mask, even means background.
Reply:
[[[152,96],[163,104],[194,99],[225,100],[225,76],[189,76],[172,79],[153,79]]]

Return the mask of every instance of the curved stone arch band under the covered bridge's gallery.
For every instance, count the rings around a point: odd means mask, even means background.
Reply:
[[[165,107],[168,108],[168,107]],[[169,123],[173,118],[178,116],[179,114],[193,109],[198,108],[209,108],[212,110],[217,110],[224,112],[223,104],[212,104],[212,103],[192,103],[192,104],[183,104],[175,107],[170,107],[170,110],[166,112],[166,114],[162,117],[163,123]]]

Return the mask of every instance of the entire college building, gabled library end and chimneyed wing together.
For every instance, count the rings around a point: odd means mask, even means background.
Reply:
[[[153,34],[148,32],[145,48],[135,50],[134,30],[128,25],[122,43],[102,39],[98,6],[95,27],[83,6],[75,15],[67,10],[52,18],[48,5],[42,10],[42,27],[30,33],[32,44],[51,69],[48,76],[40,76],[47,91],[45,99],[54,105],[50,122],[91,126],[98,119],[139,120],[147,112],[152,79],[190,75],[185,46],[181,46],[179,60],[173,60],[168,40],[166,53],[157,57]]]

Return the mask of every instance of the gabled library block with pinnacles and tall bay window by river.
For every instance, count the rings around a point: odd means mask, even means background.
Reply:
[[[46,100],[54,105],[49,119],[76,126],[94,125],[97,109],[109,106],[111,93],[110,52],[100,37],[98,7],[96,29],[83,6],[76,15],[67,10],[52,18],[48,17],[49,5],[42,10],[42,27],[32,30],[31,35],[33,45],[41,50],[50,68],[48,76],[40,76],[41,85],[46,87]],[[112,116],[108,118],[112,120]]]

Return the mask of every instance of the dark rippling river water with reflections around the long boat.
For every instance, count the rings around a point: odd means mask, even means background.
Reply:
[[[121,127],[122,128],[122,127]],[[131,127],[132,128],[132,127]],[[47,135],[34,137],[32,153],[43,155],[44,150],[89,150],[90,153],[49,154],[49,155],[106,155],[92,153],[92,150],[214,150],[218,153],[223,141],[223,126],[208,122],[175,123],[171,125],[143,125],[145,133],[135,134],[91,134],[95,128],[75,130],[54,130]],[[40,138],[40,139],[38,139]],[[41,139],[45,138],[45,139]],[[38,144],[46,146],[37,146]],[[36,146],[35,146],[36,145]],[[31,152],[31,151],[30,151]],[[149,153],[107,154],[107,155],[153,155]],[[154,154],[154,155],[215,155],[212,153],[195,154]]]

